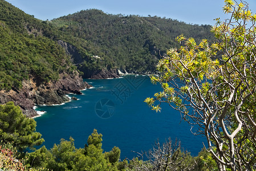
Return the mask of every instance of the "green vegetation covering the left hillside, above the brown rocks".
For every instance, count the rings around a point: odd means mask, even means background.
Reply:
[[[22,87],[22,80],[39,82],[72,72],[70,59],[54,40],[43,36],[48,25],[0,1],[0,90]],[[45,32],[46,32],[45,31]]]

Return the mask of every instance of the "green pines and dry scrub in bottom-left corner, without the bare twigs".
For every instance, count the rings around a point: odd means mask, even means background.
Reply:
[[[103,153],[102,135],[96,129],[83,149],[76,149],[74,139],[70,138],[70,141],[60,140],[60,144],[55,144],[51,150],[43,146],[26,154],[28,147],[34,149],[44,141],[40,139],[40,133],[35,132],[35,127],[35,120],[22,115],[21,108],[12,101],[0,105],[0,168],[24,169],[25,164],[27,168],[46,170],[121,170],[124,167],[118,162],[119,148]]]

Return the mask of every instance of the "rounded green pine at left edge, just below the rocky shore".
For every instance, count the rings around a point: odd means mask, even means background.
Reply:
[[[22,114],[12,101],[0,105],[0,139],[3,143],[13,142],[19,150],[43,143],[41,135],[35,132],[36,122]]]

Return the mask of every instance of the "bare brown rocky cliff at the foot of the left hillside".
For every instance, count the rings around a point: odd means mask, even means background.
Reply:
[[[33,109],[35,104],[61,104],[69,100],[66,93],[81,94],[80,89],[90,87],[83,82],[78,72],[71,75],[62,73],[59,80],[45,84],[31,78],[23,80],[22,85],[20,90],[0,91],[0,103],[14,101],[15,105],[19,105],[28,117],[38,115]]]

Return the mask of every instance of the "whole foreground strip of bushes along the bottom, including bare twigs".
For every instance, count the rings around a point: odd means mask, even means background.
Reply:
[[[45,146],[31,153],[26,147],[40,145],[43,139],[35,132],[36,123],[22,115],[21,109],[9,102],[0,105],[0,169],[7,170],[206,170],[216,163],[202,150],[197,157],[181,149],[171,140],[156,143],[145,156],[120,161],[120,149],[103,152],[102,135],[96,129],[84,148],[75,148],[74,139],[60,140],[50,150]],[[143,158],[144,157],[144,158]],[[144,159],[144,160],[142,160]]]

